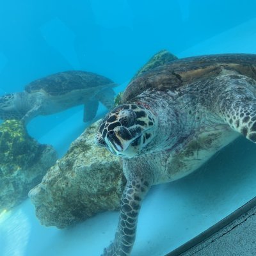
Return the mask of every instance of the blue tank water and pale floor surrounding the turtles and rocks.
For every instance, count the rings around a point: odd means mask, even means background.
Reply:
[[[179,58],[256,53],[255,10],[254,0],[5,1],[0,94],[71,69],[107,76],[121,84],[118,92],[161,49]],[[29,134],[54,145],[61,157],[85,128],[82,109],[37,117]],[[100,106],[97,117],[104,113]],[[235,141],[198,172],[154,187],[143,202],[132,255],[163,256],[253,198],[255,153],[249,141]],[[117,212],[105,212],[67,230],[46,228],[27,200],[0,220],[0,255],[99,256],[117,221]]]

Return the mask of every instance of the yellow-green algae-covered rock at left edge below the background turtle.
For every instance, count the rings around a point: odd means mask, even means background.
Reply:
[[[22,122],[3,122],[0,125],[0,212],[22,202],[56,159],[55,150],[31,138]]]

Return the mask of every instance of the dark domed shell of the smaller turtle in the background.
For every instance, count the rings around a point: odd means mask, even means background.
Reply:
[[[113,87],[116,84],[107,77],[84,71],[66,71],[52,74],[27,84],[28,93],[44,90],[49,95],[63,95],[73,90],[84,90],[98,87]]]

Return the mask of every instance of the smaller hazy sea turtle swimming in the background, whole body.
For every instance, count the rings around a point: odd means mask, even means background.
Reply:
[[[38,115],[51,115],[84,104],[84,122],[93,119],[99,101],[110,109],[116,84],[107,77],[84,71],[67,71],[37,79],[24,92],[0,97],[0,119],[22,119],[27,124]]]

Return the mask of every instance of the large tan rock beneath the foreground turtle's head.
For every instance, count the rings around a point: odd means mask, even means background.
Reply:
[[[97,212],[118,209],[125,186],[122,164],[95,145],[98,125],[88,127],[29,192],[42,225],[65,228]]]

